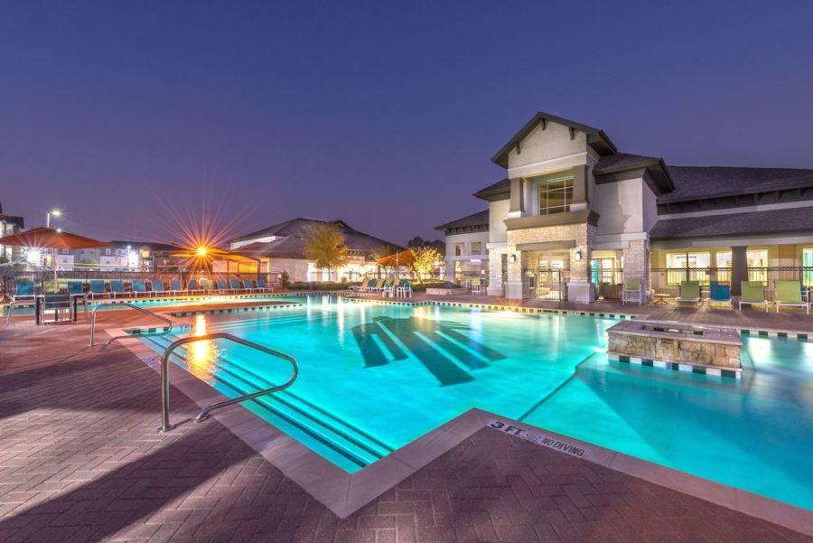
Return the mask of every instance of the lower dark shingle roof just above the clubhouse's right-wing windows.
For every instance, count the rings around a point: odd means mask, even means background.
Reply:
[[[802,207],[659,220],[649,232],[649,238],[753,236],[781,232],[809,233],[810,231],[813,231],[813,207]]]

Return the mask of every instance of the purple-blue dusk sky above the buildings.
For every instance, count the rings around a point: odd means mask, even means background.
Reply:
[[[537,110],[668,164],[813,168],[813,3],[656,4],[5,2],[0,201],[104,240],[205,212],[403,244],[485,209]]]

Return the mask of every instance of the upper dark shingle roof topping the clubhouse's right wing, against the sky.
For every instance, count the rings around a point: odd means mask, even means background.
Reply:
[[[668,169],[675,182],[675,192],[659,196],[658,203],[813,186],[813,170],[724,166],[669,166]]]

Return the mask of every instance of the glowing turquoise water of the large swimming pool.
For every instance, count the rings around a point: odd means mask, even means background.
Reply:
[[[294,355],[294,386],[244,405],[348,472],[480,407],[813,509],[813,343],[746,336],[735,382],[609,361],[610,319],[291,300],[304,307],[198,316],[193,333]],[[289,371],[228,342],[175,362],[229,396]]]

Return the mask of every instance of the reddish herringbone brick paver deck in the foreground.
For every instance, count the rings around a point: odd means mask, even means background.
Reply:
[[[488,428],[340,520],[214,420],[157,434],[158,375],[87,338],[0,330],[4,543],[813,540]]]

